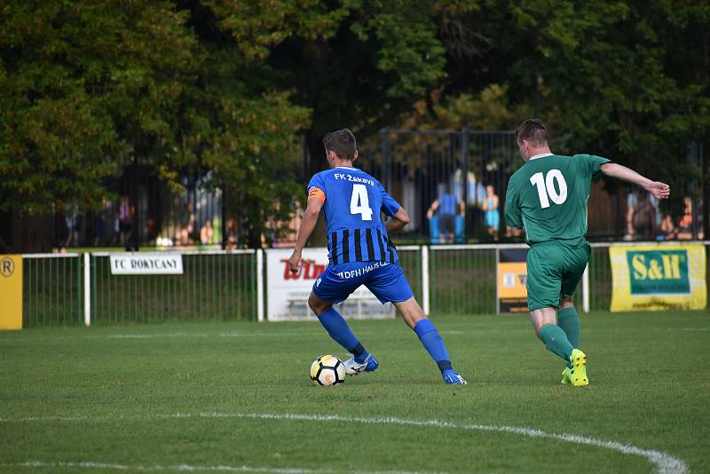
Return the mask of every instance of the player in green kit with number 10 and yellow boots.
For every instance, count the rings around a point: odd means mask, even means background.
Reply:
[[[564,156],[550,152],[548,129],[528,119],[516,130],[525,161],[510,177],[505,199],[509,227],[525,228],[527,301],[533,327],[550,352],[565,363],[562,383],[588,385],[587,356],[580,351],[580,315],[574,289],[589,259],[587,201],[597,173],[643,187],[666,199],[670,187],[593,154]]]

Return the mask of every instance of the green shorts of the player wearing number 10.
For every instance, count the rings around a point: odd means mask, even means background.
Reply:
[[[589,261],[588,243],[572,247],[551,241],[527,252],[527,304],[530,311],[559,308],[560,296],[574,294]]]

